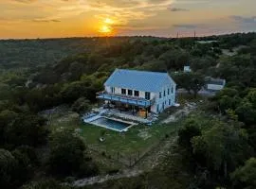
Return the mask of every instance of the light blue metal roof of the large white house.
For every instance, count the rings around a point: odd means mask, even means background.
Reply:
[[[164,84],[170,82],[174,80],[168,73],[116,69],[104,85],[143,92],[159,92]]]

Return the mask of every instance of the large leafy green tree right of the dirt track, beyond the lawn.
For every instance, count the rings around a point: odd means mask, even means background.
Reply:
[[[251,149],[247,146],[244,129],[217,120],[213,123],[213,127],[203,132],[201,137],[192,139],[192,149],[197,157],[203,155],[206,158],[202,164],[206,163],[213,175],[222,174],[227,179],[228,173],[247,159]]]

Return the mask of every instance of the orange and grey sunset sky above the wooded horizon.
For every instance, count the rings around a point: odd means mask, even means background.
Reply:
[[[0,38],[256,31],[256,0],[0,0]]]

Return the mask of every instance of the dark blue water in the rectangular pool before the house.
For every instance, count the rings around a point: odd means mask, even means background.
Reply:
[[[105,117],[96,119],[96,120],[92,121],[91,123],[101,126],[101,127],[104,127],[104,128],[114,129],[114,130],[119,130],[119,131],[122,131],[123,129],[126,129],[131,126],[131,124],[120,122],[120,121],[113,120],[113,119],[108,119]]]

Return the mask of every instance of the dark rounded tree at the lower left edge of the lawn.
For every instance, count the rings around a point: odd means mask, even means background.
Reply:
[[[70,130],[52,134],[47,162],[50,173],[57,176],[68,176],[78,172],[84,162],[84,150],[83,141]]]

